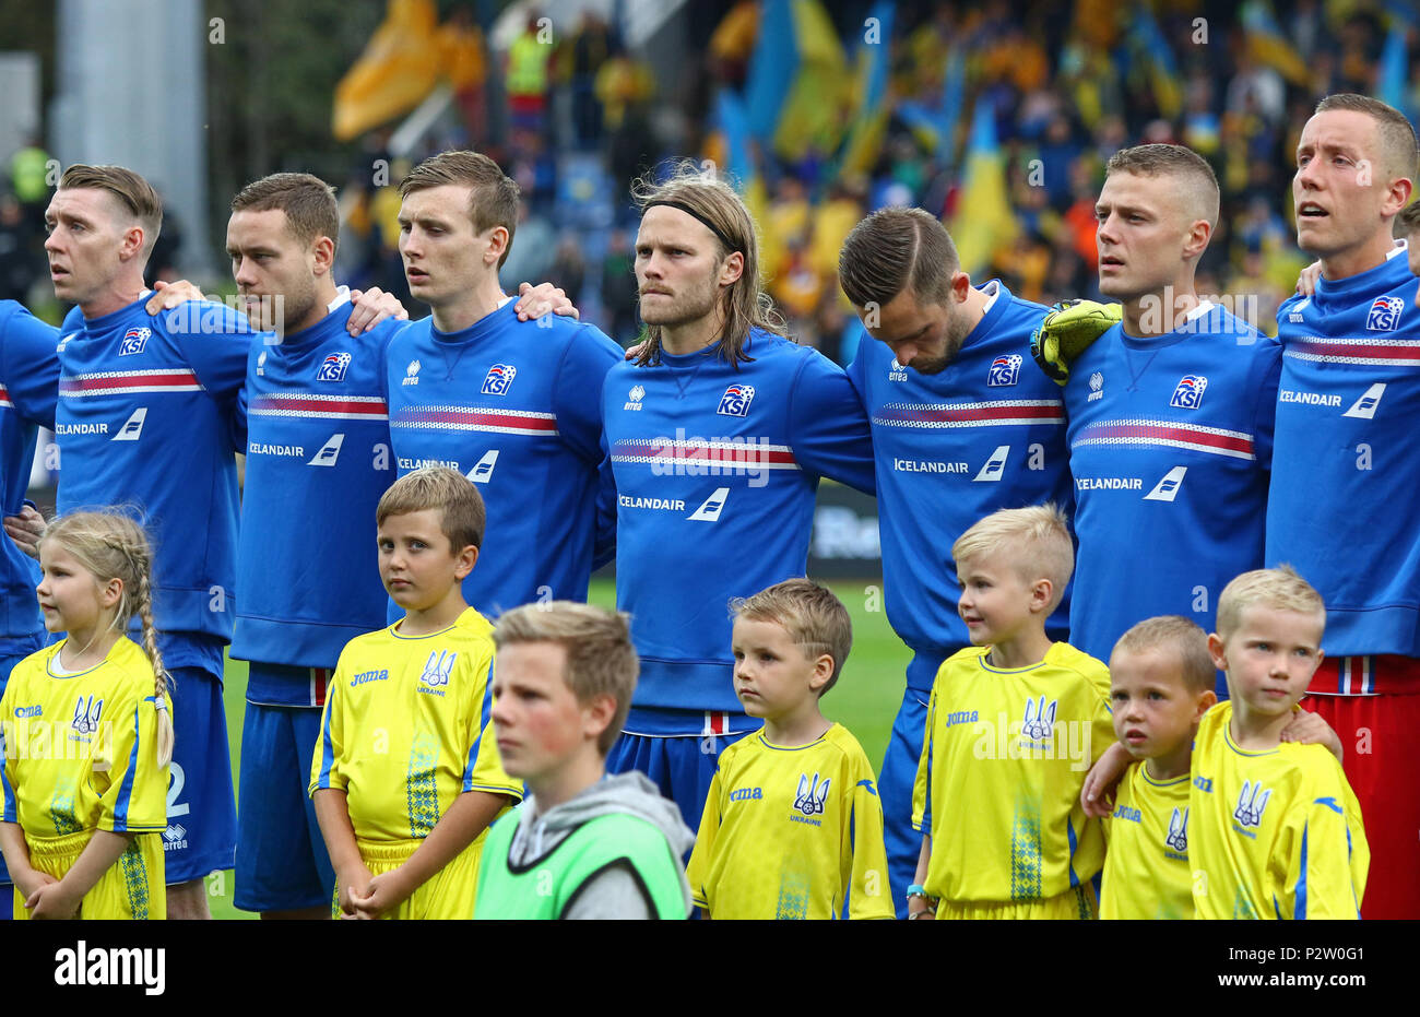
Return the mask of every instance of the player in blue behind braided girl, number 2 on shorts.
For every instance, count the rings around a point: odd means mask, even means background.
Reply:
[[[234,418],[253,334],[217,305],[145,310],[160,223],[158,195],[119,166],[70,166],[45,212],[54,293],[84,322],[58,351],[58,507],[131,501],[155,535],[159,646],[176,679],[168,915],[206,918],[202,878],[231,866],[236,839],[222,649],[236,582]]]

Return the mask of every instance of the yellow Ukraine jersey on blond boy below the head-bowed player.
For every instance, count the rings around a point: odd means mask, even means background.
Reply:
[[[1105,859],[1079,793],[1115,741],[1109,669],[1061,642],[1012,670],[988,652],[956,653],[932,686],[912,818],[932,834],[923,885],[954,902],[1055,898]]]

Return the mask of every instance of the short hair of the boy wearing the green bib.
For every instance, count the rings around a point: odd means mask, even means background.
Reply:
[[[630,615],[594,608],[591,604],[551,601],[525,604],[498,618],[493,642],[503,649],[515,643],[547,642],[567,653],[562,679],[586,706],[598,696],[616,700],[616,713],[596,736],[596,750],[605,757],[626,724],[630,697],[636,692],[640,660],[630,642]]]

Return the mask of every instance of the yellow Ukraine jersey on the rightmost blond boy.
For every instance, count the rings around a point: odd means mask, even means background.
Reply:
[[[1359,918],[1370,848],[1340,763],[1322,746],[1247,751],[1233,703],[1193,743],[1193,903],[1198,918]]]

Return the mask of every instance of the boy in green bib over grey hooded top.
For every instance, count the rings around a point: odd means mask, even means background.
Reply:
[[[527,795],[488,831],[474,916],[687,918],[694,835],[643,774],[605,777],[639,670],[625,615],[530,604],[493,641],[498,753]]]

